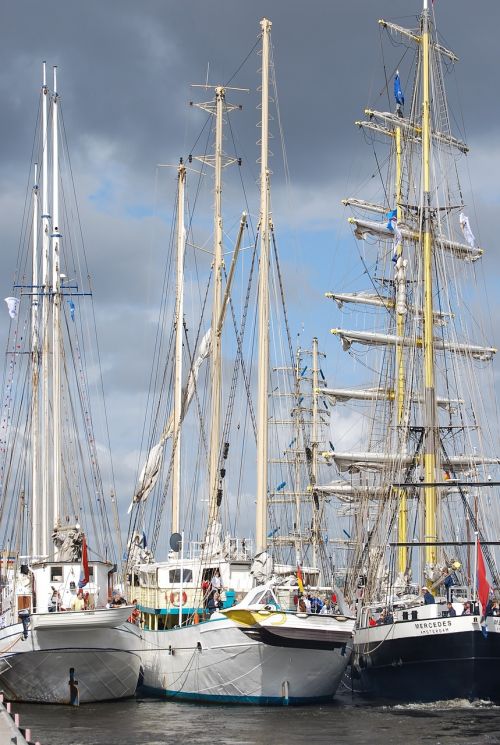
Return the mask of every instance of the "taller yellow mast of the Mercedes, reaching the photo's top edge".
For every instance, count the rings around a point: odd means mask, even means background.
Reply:
[[[424,0],[422,15],[422,178],[423,178],[423,269],[424,269],[424,401],[425,401],[425,440],[424,476],[425,483],[436,480],[436,391],[434,382],[434,324],[432,304],[432,236],[430,207],[430,42],[429,8]],[[436,542],[437,494],[435,486],[425,487],[424,542]],[[425,563],[436,563],[436,546],[425,547]]]

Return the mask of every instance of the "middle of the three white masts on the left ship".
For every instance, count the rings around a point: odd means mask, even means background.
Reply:
[[[46,63],[43,63],[42,83],[42,504],[41,504],[41,543],[40,553],[48,554],[49,539],[49,166],[48,166],[48,127],[47,108],[49,90],[47,88]],[[35,547],[33,547],[35,550]]]

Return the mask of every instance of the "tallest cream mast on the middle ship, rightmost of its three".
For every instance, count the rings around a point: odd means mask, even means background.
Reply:
[[[257,398],[257,553],[267,548],[267,429],[269,377],[269,37],[271,21],[262,28],[262,132],[260,143],[260,268],[259,268],[259,374]]]

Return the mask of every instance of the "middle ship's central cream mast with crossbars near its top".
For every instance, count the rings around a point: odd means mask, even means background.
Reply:
[[[212,307],[212,379],[211,379],[211,420],[209,455],[209,513],[208,526],[211,531],[217,521],[219,487],[220,421],[222,401],[222,361],[221,333],[218,332],[222,308],[222,114],[226,91],[223,87],[215,89],[215,204],[214,204],[214,299]],[[210,533],[211,534],[211,533]]]

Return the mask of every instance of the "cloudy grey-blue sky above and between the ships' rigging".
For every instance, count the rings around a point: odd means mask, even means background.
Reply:
[[[335,309],[324,292],[345,284],[343,253],[352,251],[339,200],[373,169],[353,126],[363,109],[387,108],[388,74],[401,56],[377,20],[415,27],[412,0],[19,0],[4,2],[0,30],[0,267],[11,294],[20,236],[41,62],[59,68],[59,88],[95,307],[119,501],[133,490],[143,410],[161,297],[168,238],[167,200],[175,172],[157,164],[186,157],[203,115],[191,83],[226,83],[254,47],[263,16],[273,22],[274,64],[289,183],[273,124],[274,221],[285,236],[282,256],[292,332],[304,344],[320,338],[326,372],[341,380],[343,363],[328,330]],[[498,0],[436,0],[443,44],[459,56],[449,76],[452,121],[471,154],[462,165],[474,232],[487,253],[493,317],[500,309],[496,223],[500,189]],[[385,56],[384,56],[385,55]],[[243,104],[232,119],[247,183],[258,174],[259,61],[255,51],[231,85],[249,88],[228,99]],[[384,95],[381,95],[384,94]],[[241,117],[241,121],[239,118]],[[471,190],[470,185],[473,189]],[[473,197],[473,201],[472,201]],[[258,211],[255,193],[251,209]],[[160,206],[159,206],[160,205]],[[162,206],[163,205],[163,206]],[[241,211],[241,208],[239,208]],[[238,213],[239,214],[239,213]],[[227,217],[232,225],[238,216]],[[162,227],[163,226],[163,227]],[[162,232],[163,231],[163,232]],[[495,242],[496,241],[496,242]],[[160,267],[160,268],[159,268]],[[339,281],[338,281],[339,280]],[[352,287],[351,289],[356,289]],[[8,320],[8,319],[7,319]],[[7,320],[5,323],[7,323]],[[500,333],[491,340],[500,344]],[[2,331],[2,338],[5,329]],[[496,337],[496,338],[495,338]]]

